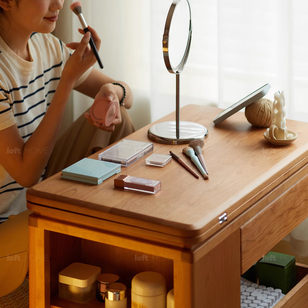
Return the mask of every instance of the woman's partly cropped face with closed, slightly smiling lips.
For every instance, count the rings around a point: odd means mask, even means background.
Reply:
[[[6,11],[10,28],[25,33],[50,33],[55,29],[55,22],[64,0],[20,0],[18,6],[12,5]]]

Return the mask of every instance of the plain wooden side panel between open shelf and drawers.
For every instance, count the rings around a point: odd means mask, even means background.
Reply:
[[[239,241],[240,232],[237,230],[194,264],[192,307],[239,306]],[[185,306],[178,302],[175,307]]]

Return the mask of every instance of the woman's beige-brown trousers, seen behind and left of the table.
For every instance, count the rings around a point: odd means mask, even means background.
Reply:
[[[44,179],[134,132],[127,111],[122,106],[120,111],[122,123],[113,132],[95,128],[81,115],[57,140]],[[0,224],[0,297],[17,289],[29,269],[30,213],[26,210],[10,215],[7,221]]]

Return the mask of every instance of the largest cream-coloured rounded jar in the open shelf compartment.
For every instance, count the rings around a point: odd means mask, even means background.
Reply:
[[[156,272],[142,272],[132,279],[132,307],[166,308],[166,280]]]

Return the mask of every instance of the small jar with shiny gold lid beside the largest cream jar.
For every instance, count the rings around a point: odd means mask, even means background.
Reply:
[[[127,308],[126,286],[123,283],[113,282],[106,286],[105,308]]]

